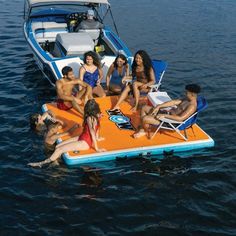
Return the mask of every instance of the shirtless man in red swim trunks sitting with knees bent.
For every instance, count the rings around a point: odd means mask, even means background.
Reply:
[[[75,79],[73,69],[69,66],[65,66],[62,69],[62,75],[63,78],[56,82],[57,107],[64,111],[74,108],[83,115],[83,108],[79,105],[82,104],[82,97],[84,97],[86,103],[89,94],[92,93],[90,86],[81,80]],[[76,84],[82,87],[77,94],[73,93],[73,88]]]

